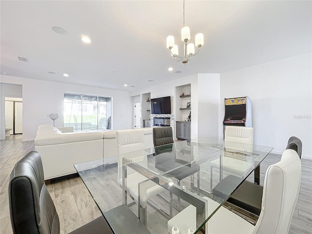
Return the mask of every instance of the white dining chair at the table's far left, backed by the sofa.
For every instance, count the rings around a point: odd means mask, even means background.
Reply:
[[[147,168],[147,154],[145,152],[145,140],[144,140],[144,130],[143,129],[126,129],[117,130],[117,149],[118,149],[118,171],[117,171],[117,181],[120,186],[122,186],[122,158],[126,157],[131,159],[133,162],[140,164]],[[139,174],[135,170],[127,167],[127,192],[130,194],[131,198],[138,203],[138,185],[139,183],[147,180],[147,177]],[[164,189],[152,181],[147,181],[148,189],[146,195],[140,196],[140,206],[143,212],[146,213],[147,199],[159,194]],[[146,185],[146,184],[145,184]],[[144,199],[142,200],[142,198]],[[146,217],[146,214],[145,214]]]

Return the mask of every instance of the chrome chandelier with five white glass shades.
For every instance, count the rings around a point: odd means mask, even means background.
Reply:
[[[197,33],[195,35],[195,46],[198,48],[195,53],[194,44],[188,43],[189,39],[191,39],[191,34],[190,28],[185,26],[185,0],[183,0],[183,28],[181,29],[181,39],[184,42],[183,58],[178,56],[179,52],[173,36],[167,37],[167,48],[170,50],[171,56],[175,57],[177,62],[182,60],[182,63],[186,64],[193,56],[198,54],[200,47],[204,44],[204,35],[202,33]]]

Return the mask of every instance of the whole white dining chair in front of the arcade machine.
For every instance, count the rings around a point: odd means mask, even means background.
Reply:
[[[211,161],[211,192],[213,190],[213,168],[220,170],[219,181],[223,179],[223,171],[233,173],[237,176],[244,177],[252,168],[254,161],[246,157],[246,159],[237,159],[235,153],[253,152],[254,128],[243,126],[226,126],[224,132],[224,151],[220,158]],[[234,156],[232,156],[234,154]],[[221,163],[220,163],[221,161]],[[222,168],[220,168],[220,165]]]

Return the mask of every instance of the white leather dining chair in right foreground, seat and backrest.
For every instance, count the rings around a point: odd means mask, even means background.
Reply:
[[[220,207],[205,225],[206,234],[287,234],[297,203],[301,182],[301,161],[291,149],[284,151],[281,160],[267,169],[262,206],[255,226],[224,207]],[[248,192],[248,191],[246,191]],[[220,204],[207,199],[206,217]],[[183,212],[175,216],[183,217]],[[182,214],[181,214],[182,213]],[[194,223],[196,216],[188,216],[184,224]],[[171,224],[171,220],[168,221]]]

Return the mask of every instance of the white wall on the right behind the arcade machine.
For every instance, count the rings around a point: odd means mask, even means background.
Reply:
[[[281,154],[289,137],[295,136],[302,141],[302,157],[312,158],[311,56],[220,74],[221,105],[224,98],[247,95],[252,100],[254,144],[273,146],[273,153]]]

